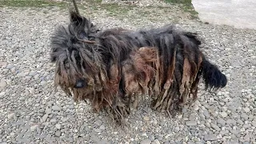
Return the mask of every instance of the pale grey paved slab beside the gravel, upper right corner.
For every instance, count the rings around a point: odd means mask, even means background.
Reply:
[[[256,30],[254,0],[192,0],[203,22]]]

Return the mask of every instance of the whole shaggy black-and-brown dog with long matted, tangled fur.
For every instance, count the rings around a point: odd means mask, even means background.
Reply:
[[[151,30],[98,30],[90,19],[70,10],[70,24],[51,38],[54,83],[76,101],[89,99],[114,122],[130,114],[130,104],[148,94],[154,110],[170,116],[190,95],[197,98],[202,78],[207,90],[226,86],[226,76],[199,50],[196,34],[162,26]]]

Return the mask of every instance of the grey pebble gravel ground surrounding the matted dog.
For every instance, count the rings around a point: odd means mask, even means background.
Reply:
[[[175,7],[130,10],[122,17],[110,17],[103,10],[82,13],[102,28],[135,30],[176,22],[197,32],[202,50],[227,75],[228,85],[216,94],[200,90],[198,101],[172,119],[151,110],[147,100],[130,114],[129,126],[114,129],[106,114],[94,114],[86,102],[74,104],[62,90],[54,91],[50,34],[68,22],[67,10],[2,7],[0,142],[255,143],[256,30],[202,24]]]

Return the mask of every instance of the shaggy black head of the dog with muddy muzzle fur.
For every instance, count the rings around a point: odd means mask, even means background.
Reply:
[[[74,98],[94,93],[95,83],[104,73],[101,57],[94,49],[97,32],[89,19],[70,10],[69,25],[58,27],[51,38],[50,58],[56,64],[55,86],[61,86],[68,94],[73,91]]]

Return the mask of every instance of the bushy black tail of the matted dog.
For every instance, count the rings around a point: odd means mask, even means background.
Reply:
[[[205,81],[206,90],[218,90],[226,86],[226,75],[217,66],[210,63],[206,58],[202,59],[202,78]]]

